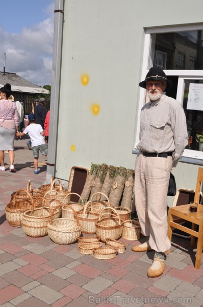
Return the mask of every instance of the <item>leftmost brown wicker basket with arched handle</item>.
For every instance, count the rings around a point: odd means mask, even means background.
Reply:
[[[19,193],[27,193],[28,199],[17,199]],[[23,212],[29,210],[33,205],[31,194],[26,189],[19,189],[15,192],[12,202],[5,207],[6,219],[11,226],[22,227]]]

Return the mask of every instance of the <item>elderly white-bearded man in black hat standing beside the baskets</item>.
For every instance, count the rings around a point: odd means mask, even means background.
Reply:
[[[176,167],[188,144],[186,117],[182,105],[168,97],[172,87],[164,71],[151,68],[139,85],[150,101],[141,109],[140,141],[135,164],[135,205],[141,232],[147,241],[132,248],[135,252],[154,250],[148,277],[162,275],[167,237],[167,191],[170,171]]]

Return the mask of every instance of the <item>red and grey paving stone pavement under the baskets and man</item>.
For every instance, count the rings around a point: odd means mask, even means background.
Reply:
[[[189,246],[188,239],[172,237],[164,274],[153,279],[146,275],[153,252],[131,251],[138,242],[121,238],[126,243],[123,254],[98,260],[80,254],[78,243],[57,245],[48,236],[32,238],[22,228],[10,226],[5,206],[11,194],[26,188],[28,180],[35,189],[46,180],[46,161],[42,156],[40,172],[34,174],[27,140],[15,141],[16,172],[0,173],[1,306],[203,306],[203,265],[194,269],[196,250]],[[5,161],[9,163],[8,154]]]

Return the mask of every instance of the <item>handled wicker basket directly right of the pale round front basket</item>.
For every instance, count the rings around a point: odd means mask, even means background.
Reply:
[[[99,214],[87,211],[87,206],[88,203],[85,204],[83,211],[78,212],[78,218],[81,223],[82,233],[94,234],[96,233],[95,223],[98,221]]]

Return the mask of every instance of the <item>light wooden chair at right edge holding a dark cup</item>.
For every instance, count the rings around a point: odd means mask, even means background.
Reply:
[[[194,202],[196,203],[199,203],[199,196],[200,196],[200,189],[202,182],[203,182],[203,168],[199,167],[195,195],[194,195]],[[185,222],[185,221],[192,223],[191,229],[180,224],[180,222]],[[199,269],[201,262],[202,247],[203,247],[203,205],[198,204],[196,213],[189,212],[189,204],[170,207],[168,210],[168,237],[170,241],[172,237],[172,228],[177,228],[186,233],[189,233],[191,235],[190,246],[194,246],[195,237],[197,237],[195,269]]]

